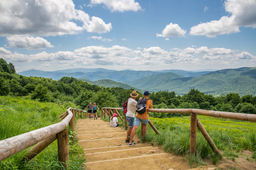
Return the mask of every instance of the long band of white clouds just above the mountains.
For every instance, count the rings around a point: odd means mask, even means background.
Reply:
[[[98,37],[95,37],[98,38]],[[138,48],[141,49],[141,48]],[[8,62],[45,62],[69,64],[69,66],[81,66],[93,64],[97,67],[111,66],[134,66],[136,67],[158,67],[168,68],[196,65],[220,65],[228,63],[230,65],[239,65],[237,62],[244,61],[245,66],[248,63],[256,61],[256,56],[249,52],[239,52],[234,49],[227,48],[173,48],[170,51],[161,49],[160,47],[149,47],[141,50],[134,50],[123,46],[101,47],[88,46],[70,51],[59,51],[57,53],[41,52],[33,55],[23,55],[19,53],[11,53],[5,48],[0,48],[0,58],[4,58]],[[53,64],[54,65],[54,64]],[[241,64],[239,65],[241,66]],[[238,67],[239,67],[238,66]]]

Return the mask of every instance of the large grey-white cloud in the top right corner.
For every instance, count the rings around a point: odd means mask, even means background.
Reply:
[[[216,37],[219,34],[240,32],[239,27],[256,28],[256,1],[253,0],[226,0],[224,2],[228,16],[219,20],[198,24],[190,29],[191,35],[205,35]]]

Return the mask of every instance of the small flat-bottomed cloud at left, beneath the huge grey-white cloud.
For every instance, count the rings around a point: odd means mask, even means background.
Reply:
[[[54,47],[42,37],[6,37],[8,44],[6,48],[27,48],[27,49],[45,49]]]

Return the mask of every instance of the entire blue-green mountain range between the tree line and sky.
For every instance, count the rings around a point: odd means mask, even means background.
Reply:
[[[108,69],[66,69],[57,71],[27,70],[19,72],[23,76],[37,76],[59,80],[74,77],[104,87],[122,87],[140,92],[174,91],[176,94],[188,93],[190,89],[219,96],[227,93],[256,95],[256,67],[223,69],[215,71],[185,70],[108,70]]]

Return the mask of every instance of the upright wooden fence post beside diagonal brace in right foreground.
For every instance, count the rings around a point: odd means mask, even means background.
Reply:
[[[194,113],[190,114],[190,155],[196,154],[197,152],[197,115]]]

